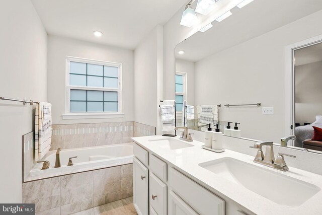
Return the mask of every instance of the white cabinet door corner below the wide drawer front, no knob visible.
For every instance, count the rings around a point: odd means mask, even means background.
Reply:
[[[176,193],[169,193],[170,213],[171,215],[198,215],[186,202],[184,202]]]

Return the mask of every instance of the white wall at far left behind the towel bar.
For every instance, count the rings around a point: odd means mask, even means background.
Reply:
[[[30,1],[0,2],[0,96],[47,100],[47,33]],[[0,101],[0,202],[22,201],[22,135],[35,105]]]

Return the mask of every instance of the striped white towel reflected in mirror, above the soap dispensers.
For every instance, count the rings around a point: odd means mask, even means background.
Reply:
[[[198,126],[204,124],[214,124],[218,121],[218,106],[217,105],[198,105]]]

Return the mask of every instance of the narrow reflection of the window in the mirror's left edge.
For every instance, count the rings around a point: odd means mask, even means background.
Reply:
[[[176,111],[182,111],[183,101],[187,100],[186,98],[186,81],[187,74],[181,73],[180,71],[176,72]]]

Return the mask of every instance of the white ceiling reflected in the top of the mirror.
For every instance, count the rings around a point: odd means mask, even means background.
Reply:
[[[177,45],[176,58],[196,62],[319,10],[321,0],[255,0],[244,8],[233,8],[232,16],[220,23],[212,22],[208,31],[197,32]],[[179,55],[178,50],[185,53]]]

